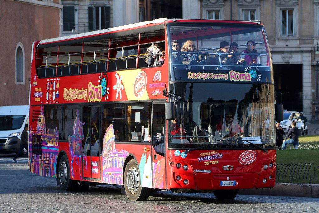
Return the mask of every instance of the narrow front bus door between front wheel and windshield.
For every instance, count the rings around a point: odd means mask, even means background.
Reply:
[[[152,109],[152,171],[153,187],[166,189],[165,169],[165,106],[153,104]]]

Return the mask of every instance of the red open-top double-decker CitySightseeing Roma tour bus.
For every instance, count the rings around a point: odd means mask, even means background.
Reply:
[[[29,169],[64,191],[117,184],[133,201],[154,190],[233,199],[275,185],[260,22],[165,18],[37,41],[30,83]]]

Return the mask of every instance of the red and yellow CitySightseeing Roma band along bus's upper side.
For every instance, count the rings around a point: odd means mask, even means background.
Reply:
[[[123,70],[85,75],[85,78],[83,75],[74,75],[49,80],[36,79],[33,82],[36,84],[31,87],[31,93],[34,94],[31,104],[133,101],[165,99],[162,94],[168,75],[154,67],[147,71]],[[43,85],[43,88],[39,85]]]

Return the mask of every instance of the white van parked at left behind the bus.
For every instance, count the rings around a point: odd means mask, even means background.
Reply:
[[[29,106],[0,106],[0,153],[17,153],[21,133],[29,123]],[[23,152],[28,155],[27,150]]]

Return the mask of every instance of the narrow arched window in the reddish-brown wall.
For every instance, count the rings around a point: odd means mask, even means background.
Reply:
[[[24,48],[22,43],[18,43],[16,46],[16,84],[25,84],[25,72],[24,72]]]

